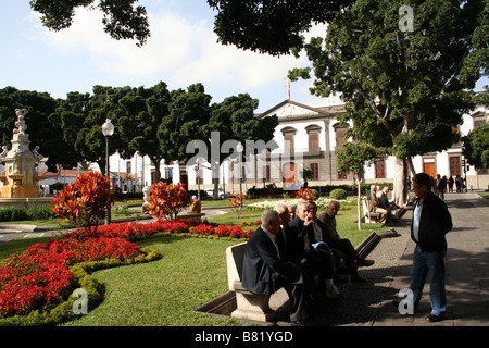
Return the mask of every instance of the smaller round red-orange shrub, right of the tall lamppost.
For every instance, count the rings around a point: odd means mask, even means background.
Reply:
[[[181,183],[177,185],[163,182],[153,184],[148,201],[148,213],[158,220],[176,219],[177,214],[190,204],[187,190]]]

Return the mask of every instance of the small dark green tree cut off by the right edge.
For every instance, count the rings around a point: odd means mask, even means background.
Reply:
[[[465,137],[463,154],[476,169],[489,169],[489,124],[475,127]]]

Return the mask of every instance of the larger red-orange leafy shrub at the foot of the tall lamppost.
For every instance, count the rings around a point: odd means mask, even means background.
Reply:
[[[105,217],[106,209],[114,201],[109,176],[90,172],[58,192],[51,203],[53,213],[91,235],[97,232],[97,226]]]

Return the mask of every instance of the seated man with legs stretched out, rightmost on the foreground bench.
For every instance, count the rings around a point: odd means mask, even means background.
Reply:
[[[340,208],[340,203],[336,200],[329,202],[328,209],[319,214],[318,219],[323,223],[323,240],[325,240],[331,248],[341,251],[348,272],[351,274],[352,282],[365,282],[359,274],[359,266],[369,266],[374,264],[373,260],[362,259],[356,252],[351,241],[347,238],[341,238],[336,229],[336,214]]]

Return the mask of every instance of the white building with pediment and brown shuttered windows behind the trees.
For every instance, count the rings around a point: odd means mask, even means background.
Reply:
[[[309,186],[351,184],[352,175],[341,175],[336,166],[336,150],[347,141],[343,128],[337,116],[344,113],[342,103],[331,102],[324,107],[310,107],[285,100],[272,109],[258,114],[256,117],[277,115],[279,124],[275,128],[274,140],[278,148],[266,151],[266,159],[258,156],[248,158],[242,163],[242,178],[239,177],[239,161],[226,160],[218,171],[218,183],[222,189],[239,192],[240,184],[243,192],[253,186],[264,187],[275,184],[277,187],[297,188],[303,183],[302,170],[310,169],[312,178]],[[459,127],[462,136],[474,127],[487,123],[487,109],[477,108],[463,115],[463,124]],[[258,140],[258,139],[256,139]],[[269,146],[272,144],[268,144]],[[233,154],[233,151],[229,151]],[[191,156],[191,154],[190,154]],[[384,161],[365,166],[366,183],[392,182],[393,161],[389,157]],[[487,171],[476,171],[474,166],[464,166],[462,145],[454,144],[441,152],[430,152],[413,158],[416,172],[426,172],[447,177],[461,175],[467,179],[467,188],[488,188]],[[202,161],[198,167],[193,164],[160,164],[161,177],[173,183],[185,183],[188,189],[214,187],[210,164]],[[467,170],[468,167],[468,170]],[[155,183],[155,167],[148,157],[137,152],[131,159],[122,159],[118,153],[111,156],[110,169],[113,185],[123,191],[140,192],[143,186]]]

